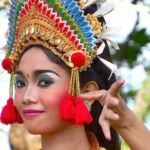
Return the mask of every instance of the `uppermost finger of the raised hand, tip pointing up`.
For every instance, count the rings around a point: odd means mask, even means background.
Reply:
[[[117,94],[123,84],[124,84],[124,80],[118,80],[115,83],[113,83],[109,89],[110,94],[112,96],[117,96]]]

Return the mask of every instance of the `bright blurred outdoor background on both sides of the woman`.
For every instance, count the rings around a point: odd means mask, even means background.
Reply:
[[[125,80],[122,96],[128,106],[150,129],[150,1],[108,0],[115,10],[106,16],[108,27],[120,50],[111,48],[114,63],[120,70],[118,78]],[[5,57],[8,29],[8,0],[0,0],[0,62]],[[0,111],[8,98],[9,75],[0,67]],[[10,150],[10,126],[0,124],[0,150]],[[129,148],[123,142],[122,150]]]

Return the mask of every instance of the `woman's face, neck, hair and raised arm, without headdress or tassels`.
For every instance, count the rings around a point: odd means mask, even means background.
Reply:
[[[29,59],[32,55],[33,59]],[[104,76],[97,75],[96,67]],[[28,131],[41,134],[43,149],[91,149],[94,143],[93,147],[101,145],[108,150],[117,150],[120,144],[115,130],[132,149],[148,149],[148,130],[118,96],[124,82],[117,81],[110,87],[113,81],[105,80],[109,73],[96,60],[91,68],[81,73],[80,96],[85,101],[97,101],[91,108],[94,121],[89,125],[74,126],[64,122],[59,114],[61,101],[69,88],[69,68],[47,48],[40,45],[27,47],[15,72],[15,104]],[[111,129],[111,135],[110,126],[115,129]],[[99,144],[93,142],[94,135]],[[145,144],[141,144],[140,137],[144,138]]]

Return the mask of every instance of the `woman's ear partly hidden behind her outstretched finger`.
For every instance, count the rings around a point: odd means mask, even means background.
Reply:
[[[98,84],[95,81],[89,81],[81,88],[81,93],[97,91],[97,90],[99,90]]]

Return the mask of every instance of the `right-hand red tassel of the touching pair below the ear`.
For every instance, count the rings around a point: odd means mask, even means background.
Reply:
[[[84,104],[83,100],[80,97],[75,99],[76,101],[76,115],[75,115],[75,124],[83,125],[89,124],[92,122],[93,118]]]

